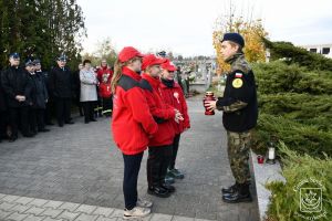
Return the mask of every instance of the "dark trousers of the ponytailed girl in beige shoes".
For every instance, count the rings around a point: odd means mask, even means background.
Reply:
[[[124,178],[123,193],[125,208],[132,210],[137,202],[137,179],[141,169],[143,152],[137,155],[123,155],[124,160]]]

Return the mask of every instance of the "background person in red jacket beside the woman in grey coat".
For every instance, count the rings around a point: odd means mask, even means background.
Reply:
[[[111,80],[113,71],[108,69],[107,61],[102,60],[101,69],[97,70],[97,80],[100,82],[98,94],[103,103],[102,114],[106,117],[112,116],[113,99],[111,90]]]

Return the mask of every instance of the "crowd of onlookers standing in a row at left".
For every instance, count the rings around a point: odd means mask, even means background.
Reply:
[[[39,59],[28,57],[23,65],[19,53],[9,55],[9,66],[0,77],[0,141],[48,133],[46,126],[74,124],[71,113],[74,103],[85,124],[96,117],[112,116],[112,69],[103,60],[93,69],[85,60],[71,72],[68,57],[60,55],[51,71],[42,69]]]

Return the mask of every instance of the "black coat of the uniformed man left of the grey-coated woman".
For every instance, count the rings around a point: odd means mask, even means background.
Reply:
[[[73,97],[73,76],[68,67],[64,70],[59,66],[53,67],[50,72],[50,92],[54,97],[71,98]]]

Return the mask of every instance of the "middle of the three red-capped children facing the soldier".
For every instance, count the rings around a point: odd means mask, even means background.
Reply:
[[[164,59],[157,59],[153,54],[143,57],[142,70],[144,73],[142,74],[141,87],[145,92],[149,110],[158,123],[158,130],[148,143],[147,192],[166,198],[175,191],[173,186],[165,183],[175,136],[172,122],[181,119],[181,116],[174,107],[166,105],[160,96],[159,74],[163,62],[165,62]]]

